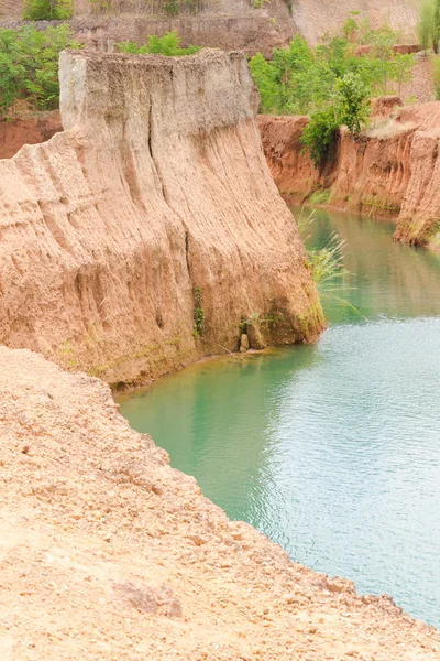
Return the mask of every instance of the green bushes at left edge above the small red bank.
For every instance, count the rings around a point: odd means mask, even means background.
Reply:
[[[25,101],[35,110],[58,106],[58,55],[63,48],[77,48],[67,23],[38,32],[26,25],[0,29],[0,115]]]

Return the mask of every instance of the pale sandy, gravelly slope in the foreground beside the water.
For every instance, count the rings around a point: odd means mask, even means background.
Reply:
[[[109,388],[0,347],[2,661],[438,661],[389,597],[292,563],[132,431]]]

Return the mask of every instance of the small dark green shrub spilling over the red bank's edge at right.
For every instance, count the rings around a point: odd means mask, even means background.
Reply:
[[[338,136],[339,122],[334,108],[326,106],[314,112],[302,131],[301,144],[309,150],[316,167],[329,160]]]

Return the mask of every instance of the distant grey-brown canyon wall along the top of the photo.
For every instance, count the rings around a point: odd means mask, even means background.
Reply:
[[[79,40],[101,50],[109,40],[143,42],[148,34],[177,30],[184,45],[268,56],[297,32],[317,43],[340,30],[350,11],[360,11],[373,28],[389,25],[404,41],[416,39],[418,18],[410,0],[339,0],[330,9],[321,0],[74,0],[69,22]],[[23,0],[0,0],[1,24],[16,26],[22,13]]]

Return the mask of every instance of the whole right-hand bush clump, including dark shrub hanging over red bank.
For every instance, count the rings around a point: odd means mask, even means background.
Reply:
[[[272,61],[258,53],[250,67],[262,111],[310,115],[304,144],[319,165],[330,155],[339,127],[359,132],[367,122],[371,97],[388,94],[392,84],[399,91],[409,80],[414,55],[396,53],[397,41],[397,33],[370,30],[352,12],[339,34],[326,35],[315,48],[297,35],[287,48],[274,50]],[[360,51],[360,45],[366,47]]]

